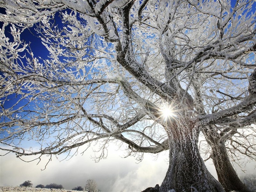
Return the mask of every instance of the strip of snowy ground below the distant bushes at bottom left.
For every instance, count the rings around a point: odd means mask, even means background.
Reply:
[[[1,192],[77,192],[76,190],[68,189],[48,189],[48,188],[34,188],[34,187],[0,187]]]

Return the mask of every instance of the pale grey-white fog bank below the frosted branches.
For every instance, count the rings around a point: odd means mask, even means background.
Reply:
[[[3,152],[1,152],[3,154]],[[78,154],[70,160],[60,161],[55,157],[46,166],[46,158],[42,161],[26,163],[16,158],[15,154],[0,157],[0,185],[18,186],[25,180],[31,180],[33,186],[50,183],[61,184],[66,189],[84,186],[87,179],[97,182],[101,191],[142,191],[147,187],[161,185],[168,168],[168,151],[162,152],[158,158],[146,154],[141,163],[134,157],[124,157],[124,152],[110,145],[107,159],[95,163],[90,156],[92,150],[88,150],[83,156]],[[214,167],[209,161],[206,163],[209,171],[217,178]],[[248,168],[250,167],[250,168]],[[247,164],[247,173],[255,172],[255,163]],[[239,174],[242,174],[239,170]]]

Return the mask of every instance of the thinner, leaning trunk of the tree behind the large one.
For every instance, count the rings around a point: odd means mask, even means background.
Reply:
[[[218,179],[226,191],[249,191],[239,179],[236,171],[229,161],[228,152],[224,142],[212,146],[212,160]]]

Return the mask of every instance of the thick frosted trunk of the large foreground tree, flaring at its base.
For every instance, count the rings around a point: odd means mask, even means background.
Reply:
[[[207,170],[197,146],[199,130],[188,119],[168,126],[170,164],[160,192],[223,192],[221,184]]]

